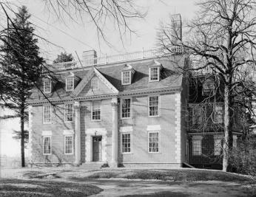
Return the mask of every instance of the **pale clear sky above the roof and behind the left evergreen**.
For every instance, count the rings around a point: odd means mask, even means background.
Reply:
[[[194,0],[138,0],[136,3],[147,15],[143,19],[129,21],[129,27],[136,34],[127,34],[123,37],[123,44],[118,35],[118,30],[107,23],[105,32],[106,42],[98,41],[98,36],[92,22],[84,18],[84,22],[72,21],[64,18],[60,21],[50,13],[43,0],[13,0],[15,6],[25,5],[31,14],[30,21],[35,24],[36,34],[43,39],[38,39],[41,55],[47,61],[53,61],[61,52],[78,54],[81,58],[82,52],[94,49],[98,56],[115,55],[125,52],[135,52],[144,49],[154,49],[156,35],[160,21],[168,21],[169,15],[181,14],[182,21],[193,18],[198,7]],[[16,8],[14,8],[16,9]],[[1,16],[0,16],[1,17]],[[1,21],[3,18],[1,18]],[[1,27],[0,27],[1,28]],[[75,53],[76,52],[76,53]],[[2,111],[10,114],[10,111]],[[19,122],[14,120],[0,120],[0,153],[7,156],[18,156],[20,153],[19,142],[12,139],[13,129],[18,129]]]

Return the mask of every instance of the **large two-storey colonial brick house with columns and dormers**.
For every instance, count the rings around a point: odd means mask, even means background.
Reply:
[[[29,108],[34,165],[181,167],[186,162],[186,75],[181,49],[57,63]]]

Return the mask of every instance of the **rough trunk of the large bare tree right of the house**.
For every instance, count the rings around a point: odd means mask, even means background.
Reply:
[[[231,94],[229,85],[225,84],[224,89],[224,142],[223,142],[223,162],[222,170],[227,171],[229,166],[229,153],[232,148],[232,113],[231,113]]]

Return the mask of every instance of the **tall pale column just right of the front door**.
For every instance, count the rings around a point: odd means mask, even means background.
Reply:
[[[111,167],[118,167],[118,98],[112,98],[112,159]]]

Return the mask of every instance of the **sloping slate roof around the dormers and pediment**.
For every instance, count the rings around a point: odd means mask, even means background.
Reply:
[[[152,58],[149,60],[143,60],[139,62],[129,62],[128,64],[135,69],[135,74],[132,78],[132,83],[130,85],[121,85],[121,72],[124,69],[126,63],[118,63],[106,66],[95,66],[99,72],[101,72],[107,80],[118,89],[119,92],[128,92],[134,90],[143,89],[158,89],[158,88],[169,88],[181,86],[182,75],[178,75],[175,72],[177,65],[183,67],[185,63],[185,57],[183,55],[175,55],[170,58]],[[155,82],[149,82],[149,66],[155,64],[158,61],[163,66],[161,69],[161,80]],[[177,62],[177,63],[174,63]],[[65,79],[73,72],[75,78],[77,79],[77,84],[81,83],[84,77],[90,76],[93,68],[84,68],[79,70],[68,70],[67,72],[60,72],[55,75],[55,80],[53,80],[53,92],[47,94],[50,99],[66,99],[70,97],[75,97],[73,92],[66,92],[65,90]],[[43,94],[38,91],[38,89],[33,90],[33,94],[30,100],[42,100],[44,99]]]

